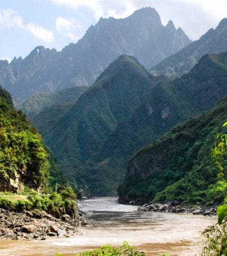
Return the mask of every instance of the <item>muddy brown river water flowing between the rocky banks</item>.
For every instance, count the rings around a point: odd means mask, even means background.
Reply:
[[[138,206],[117,204],[116,198],[86,200],[83,210],[89,226],[83,235],[45,241],[0,240],[1,256],[72,256],[104,244],[119,246],[124,241],[146,255],[199,255],[200,231],[216,222],[216,217],[202,215],[137,212]]]

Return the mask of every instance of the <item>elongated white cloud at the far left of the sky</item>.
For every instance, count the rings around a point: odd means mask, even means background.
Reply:
[[[22,17],[10,9],[0,11],[0,27],[9,29],[20,28],[29,32],[35,38],[46,43],[54,41],[53,33],[51,30],[47,30],[42,26],[34,23],[25,24]]]

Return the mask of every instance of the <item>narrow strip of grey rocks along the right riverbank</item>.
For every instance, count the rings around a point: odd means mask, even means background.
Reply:
[[[173,203],[148,203],[143,204],[138,208],[139,212],[169,212],[169,213],[189,213],[189,214],[203,214],[211,216],[216,214],[216,207],[205,206],[188,206],[182,205],[179,202]]]

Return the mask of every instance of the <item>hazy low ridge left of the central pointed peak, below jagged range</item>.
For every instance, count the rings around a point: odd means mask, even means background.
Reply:
[[[86,89],[88,89],[86,86],[77,86],[53,93],[35,93],[16,107],[21,109],[29,120],[35,119],[40,112],[53,105],[74,105]]]

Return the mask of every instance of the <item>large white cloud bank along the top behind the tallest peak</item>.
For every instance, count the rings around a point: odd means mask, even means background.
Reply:
[[[192,39],[197,39],[226,17],[226,0],[48,0],[70,8],[88,8],[96,20],[100,17],[119,19],[142,7],[156,8],[164,24],[170,19]]]

